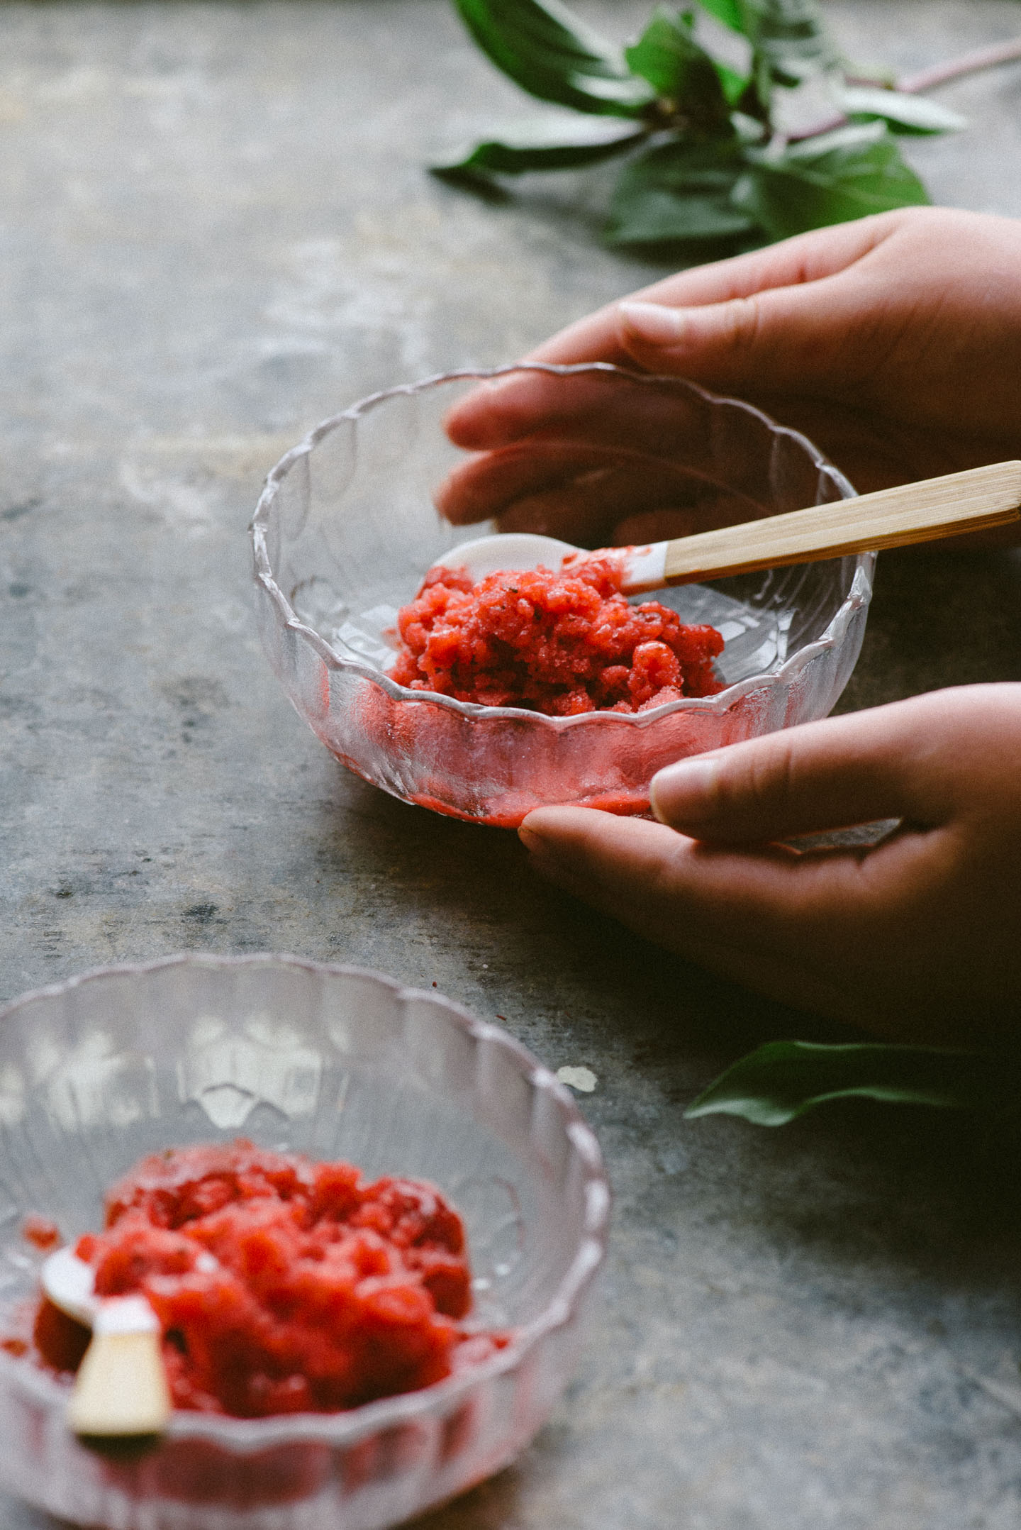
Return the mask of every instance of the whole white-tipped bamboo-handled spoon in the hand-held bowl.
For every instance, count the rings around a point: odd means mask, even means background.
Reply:
[[[810,505],[784,516],[764,516],[740,526],[720,526],[694,537],[645,548],[585,552],[538,532],[477,537],[451,548],[442,568],[466,569],[478,581],[500,569],[559,569],[564,558],[614,557],[622,563],[625,595],[691,584],[695,580],[750,574],[839,558],[848,552],[902,548],[914,542],[987,531],[1021,517],[1021,462],[993,462],[945,477],[900,483],[857,499]]]

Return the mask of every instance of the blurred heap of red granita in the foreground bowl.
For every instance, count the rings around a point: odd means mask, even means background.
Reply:
[[[463,1323],[465,1229],[439,1190],[365,1183],[352,1164],[245,1140],[142,1158],[76,1253],[98,1296],[148,1299],[176,1408],[333,1412],[429,1386],[507,1343]],[[79,1356],[50,1314],[41,1300],[38,1359],[73,1369]]]

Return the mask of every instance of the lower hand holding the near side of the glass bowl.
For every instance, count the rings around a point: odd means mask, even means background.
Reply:
[[[540,808],[552,881],[668,950],[891,1040],[1015,1042],[1021,684],[932,692],[692,756],[660,819]],[[903,820],[870,849],[776,840]]]

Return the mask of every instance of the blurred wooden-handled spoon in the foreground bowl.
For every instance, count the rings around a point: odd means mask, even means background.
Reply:
[[[41,1282],[53,1307],[92,1328],[67,1406],[70,1427],[96,1444],[154,1443],[171,1403],[153,1308],[144,1296],[95,1296],[92,1265],[73,1248],[44,1261]]]

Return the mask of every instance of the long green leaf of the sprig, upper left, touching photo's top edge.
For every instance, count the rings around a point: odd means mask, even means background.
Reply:
[[[654,99],[613,43],[559,0],[454,0],[481,50],[541,101],[608,116],[639,116]]]

